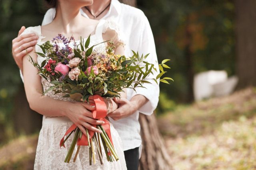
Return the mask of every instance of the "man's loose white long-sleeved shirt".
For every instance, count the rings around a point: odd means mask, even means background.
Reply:
[[[88,18],[82,10],[80,10],[80,12],[84,17]],[[55,17],[55,13],[54,8],[49,9],[44,16],[42,25],[51,23]],[[133,55],[131,50],[135,52],[138,51],[140,55],[142,53],[144,55],[150,53],[145,61],[148,61],[148,63],[157,63],[152,30],[148,19],[141,10],[122,4],[118,0],[111,0],[110,10],[102,19],[115,21],[119,29],[125,33],[120,33],[120,39],[126,44],[126,56],[131,57]],[[158,64],[155,64],[155,68],[157,68],[157,72],[154,71],[154,75],[150,75],[150,78],[156,78],[156,75],[159,73]],[[145,115],[151,115],[158,104],[159,85],[154,81],[150,82],[152,82],[152,84],[143,84],[146,88],[136,88],[136,92],[132,89],[127,89],[128,100],[136,94],[145,96],[148,102],[144,106],[129,117],[118,121],[114,121],[110,118],[111,123],[122,139],[124,150],[141,146],[140,123],[138,121],[139,112]]]

